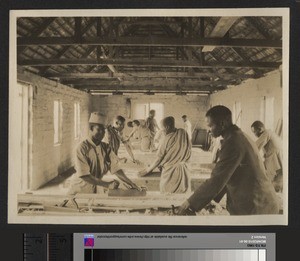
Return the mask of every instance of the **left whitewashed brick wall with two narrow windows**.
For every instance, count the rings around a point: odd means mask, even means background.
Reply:
[[[88,132],[90,95],[31,73],[18,72],[18,80],[33,86],[32,176],[30,188],[37,189],[74,165],[74,102],[80,103],[81,136]],[[62,142],[54,145],[53,102],[62,102]]]

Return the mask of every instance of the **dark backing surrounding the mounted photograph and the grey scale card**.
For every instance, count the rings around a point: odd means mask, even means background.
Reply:
[[[137,8],[290,8],[290,76],[289,76],[289,225],[288,226],[142,226],[142,225],[8,225],[8,71],[9,10],[26,9],[137,9]],[[23,233],[75,232],[198,232],[251,233],[277,235],[277,261],[299,257],[300,236],[300,0],[295,1],[129,1],[129,0],[0,0],[0,235],[1,257],[23,260]],[[3,242],[3,241],[2,241]],[[2,258],[1,258],[2,259]],[[272,261],[272,260],[269,260]]]

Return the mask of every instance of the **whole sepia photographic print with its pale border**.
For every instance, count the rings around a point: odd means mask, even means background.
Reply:
[[[289,22],[11,10],[8,223],[288,225]]]

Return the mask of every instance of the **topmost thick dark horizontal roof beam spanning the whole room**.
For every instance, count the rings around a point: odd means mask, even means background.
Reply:
[[[107,45],[107,46],[217,46],[282,49],[281,40],[244,38],[180,38],[180,37],[18,37],[17,46],[42,45]]]

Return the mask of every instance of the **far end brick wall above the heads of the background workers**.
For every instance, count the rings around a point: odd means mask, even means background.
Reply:
[[[107,116],[110,123],[114,116],[122,115],[127,120],[133,119],[133,108],[136,103],[163,103],[164,116],[173,116],[177,127],[183,127],[181,116],[186,114],[192,125],[205,128],[204,116],[209,105],[208,96],[179,95],[124,95],[93,96],[92,110],[100,111]]]

